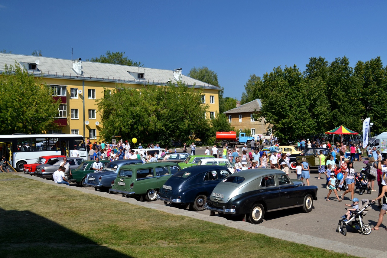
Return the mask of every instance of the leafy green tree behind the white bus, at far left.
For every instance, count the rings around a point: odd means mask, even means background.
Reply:
[[[5,65],[0,77],[0,134],[40,134],[56,129],[59,102],[41,79],[26,69]]]

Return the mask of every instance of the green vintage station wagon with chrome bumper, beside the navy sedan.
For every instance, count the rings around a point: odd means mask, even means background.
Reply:
[[[171,175],[181,168],[174,162],[150,162],[125,165],[118,171],[110,193],[134,197],[138,200],[156,200],[157,193]]]

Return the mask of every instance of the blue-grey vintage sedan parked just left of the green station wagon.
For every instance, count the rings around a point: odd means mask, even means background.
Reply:
[[[112,182],[116,179],[120,167],[131,164],[142,164],[142,160],[115,160],[109,162],[100,172],[94,172],[85,176],[84,185],[94,187],[95,190],[109,191]]]

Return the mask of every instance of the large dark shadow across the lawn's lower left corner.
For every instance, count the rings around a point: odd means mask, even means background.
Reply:
[[[28,210],[0,208],[0,243],[0,257],[131,257]]]

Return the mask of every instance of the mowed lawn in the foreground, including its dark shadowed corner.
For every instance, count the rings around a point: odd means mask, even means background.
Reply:
[[[0,198],[0,257],[353,257],[12,174]]]

